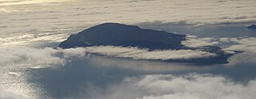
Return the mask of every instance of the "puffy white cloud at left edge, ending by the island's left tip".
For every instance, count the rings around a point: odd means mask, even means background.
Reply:
[[[1,48],[1,65],[12,64],[61,64],[64,62],[59,57],[54,57],[58,52],[55,49],[35,48]]]

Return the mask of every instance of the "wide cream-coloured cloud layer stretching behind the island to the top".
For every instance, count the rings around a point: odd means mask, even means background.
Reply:
[[[155,21],[162,23],[185,22],[192,26],[227,22],[255,22],[254,14],[256,13],[253,10],[254,0],[225,1],[226,3],[202,0],[193,2],[96,0],[90,1],[90,3],[87,3],[88,0],[63,1],[66,0],[5,0],[0,2],[0,5],[6,5],[0,8],[2,12],[0,13],[0,22],[5,23],[4,28],[1,28],[1,37],[46,34],[52,32],[43,30],[55,29],[63,34],[58,35],[59,38],[66,38],[65,34],[84,30],[102,22],[126,24]],[[62,16],[63,14],[66,17]],[[28,20],[31,21],[30,24],[27,23]],[[38,31],[30,31],[31,29]]]

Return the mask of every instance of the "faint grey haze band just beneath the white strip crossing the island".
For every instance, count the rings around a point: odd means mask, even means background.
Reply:
[[[138,72],[177,72],[177,71],[193,71],[210,69],[213,66],[198,66],[185,63],[171,63],[161,61],[148,61],[148,60],[130,60],[118,57],[98,57],[90,56],[88,58],[90,64],[94,64],[99,68],[110,69],[126,69]],[[138,66],[139,65],[139,66]]]

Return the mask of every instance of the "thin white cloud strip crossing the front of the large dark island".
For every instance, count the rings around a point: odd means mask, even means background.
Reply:
[[[128,57],[133,59],[147,60],[169,60],[169,59],[190,59],[199,57],[216,57],[216,53],[208,53],[200,50],[191,49],[166,49],[153,50],[138,49],[137,47],[120,46],[93,46],[86,47],[88,53],[98,53],[110,57]]]

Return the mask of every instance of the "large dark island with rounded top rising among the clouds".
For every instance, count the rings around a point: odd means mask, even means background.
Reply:
[[[165,60],[169,62],[187,62],[197,64],[226,64],[231,54],[226,54],[217,46],[202,48],[188,48],[182,45],[186,35],[167,33],[160,30],[145,30],[138,26],[127,26],[118,23],[104,23],[90,27],[78,34],[72,34],[58,47],[62,49],[88,46],[133,46],[138,48],[154,49],[200,49],[216,53],[216,57],[202,57],[193,59]],[[162,61],[162,60],[158,60]]]

